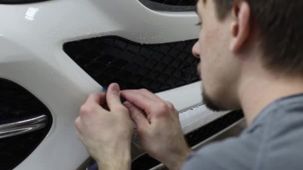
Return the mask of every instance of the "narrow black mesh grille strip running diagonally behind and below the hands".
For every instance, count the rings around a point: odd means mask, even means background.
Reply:
[[[219,119],[216,119],[187,134],[185,139],[188,145],[193,147],[229,127],[233,123],[243,118],[243,116],[242,111],[230,112]],[[154,160],[148,154],[145,154],[132,162],[132,170],[150,170],[158,165],[160,165],[158,161]]]

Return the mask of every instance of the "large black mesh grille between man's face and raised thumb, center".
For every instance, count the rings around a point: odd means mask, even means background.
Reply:
[[[199,81],[198,59],[191,54],[197,40],[140,44],[121,37],[65,43],[64,51],[102,86],[147,88],[159,92]]]

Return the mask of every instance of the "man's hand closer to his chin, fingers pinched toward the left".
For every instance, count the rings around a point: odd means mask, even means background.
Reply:
[[[174,106],[146,89],[123,90],[143,149],[169,170],[179,170],[191,150],[187,146]]]

